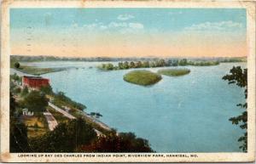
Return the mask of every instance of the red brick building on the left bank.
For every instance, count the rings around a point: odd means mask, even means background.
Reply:
[[[49,79],[43,78],[41,76],[23,76],[22,77],[22,87],[27,88],[41,88],[44,86],[49,86]]]

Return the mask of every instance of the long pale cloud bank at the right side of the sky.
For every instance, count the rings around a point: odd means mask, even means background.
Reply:
[[[239,30],[242,28],[242,24],[238,22],[220,21],[220,22],[205,22],[201,24],[194,24],[189,27],[185,27],[185,31],[230,31]]]

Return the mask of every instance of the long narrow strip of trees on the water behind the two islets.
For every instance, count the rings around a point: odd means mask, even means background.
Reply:
[[[111,63],[99,65],[98,68],[101,70],[126,70],[131,68],[154,68],[154,67],[164,67],[164,66],[185,66],[185,65],[195,65],[195,66],[210,66],[218,65],[219,61],[192,61],[188,59],[156,59],[152,61],[125,61],[119,62],[118,65],[113,65]]]

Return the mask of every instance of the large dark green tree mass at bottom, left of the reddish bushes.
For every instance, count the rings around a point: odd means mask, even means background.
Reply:
[[[94,139],[94,129],[83,118],[78,118],[59,123],[54,131],[32,139],[31,143],[33,152],[73,152]]]

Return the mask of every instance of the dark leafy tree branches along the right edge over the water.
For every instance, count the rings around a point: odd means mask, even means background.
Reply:
[[[230,74],[223,76],[223,79],[229,81],[229,84],[236,84],[240,88],[243,88],[245,99],[247,99],[247,69],[241,69],[241,66],[234,66],[230,70]],[[240,116],[231,117],[230,122],[239,125],[241,129],[246,131],[238,141],[242,143],[240,149],[247,152],[247,102],[240,103],[237,106],[240,106],[245,111]]]

